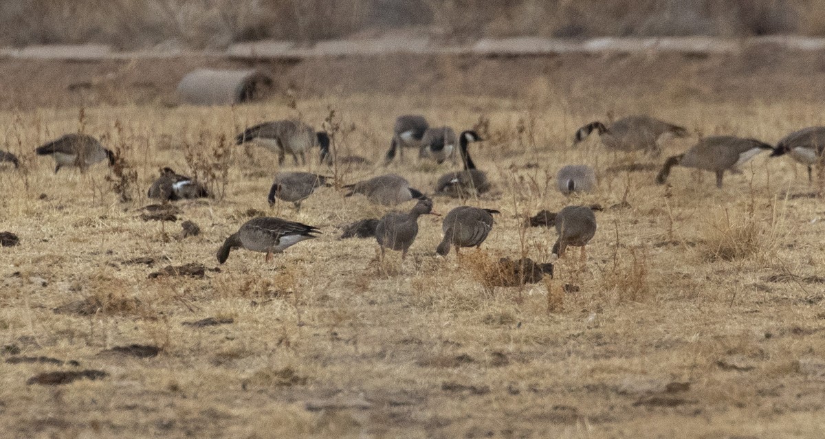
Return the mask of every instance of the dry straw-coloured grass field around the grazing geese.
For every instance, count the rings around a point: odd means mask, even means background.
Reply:
[[[573,84],[531,81],[523,99],[329,92],[238,107],[149,100],[98,101],[82,113],[3,110],[2,149],[21,155],[21,169],[0,168],[0,231],[20,237],[0,248],[0,436],[822,437],[825,209],[821,198],[795,196],[815,190],[804,168],[762,154],[722,190],[686,168],[668,186],[653,181],[653,168],[697,135],[775,143],[823,124],[822,105]],[[714,84],[696,85],[705,86]],[[606,119],[589,105],[599,99],[616,117],[643,112],[684,125],[691,139],[659,158],[609,153],[595,136],[573,149],[580,125]],[[332,110],[339,150],[379,163],[399,114],[476,126],[486,141],[471,153],[495,189],[467,201],[436,197],[435,206],[501,210],[483,247],[436,257],[441,223],[427,216],[407,261],[389,253],[380,263],[373,239],[337,239],[340,224],[386,211],[365,198],[330,187],[300,212],[267,205],[276,157],[231,146],[233,135],[286,117],[320,128]],[[34,155],[78,130],[119,151],[122,179],[103,165],[55,175],[51,158]],[[598,190],[571,199],[555,191],[555,172],[569,163],[595,167]],[[629,172],[630,163],[652,166]],[[205,178],[219,196],[177,203],[177,221],[142,220],[163,166]],[[389,169],[317,160],[300,168],[334,174],[338,186],[389,170],[425,192],[452,170],[409,159]],[[526,216],[596,203],[604,209],[584,271],[573,251],[552,280],[485,283],[499,257],[549,256],[554,230],[525,228]],[[224,238],[256,215],[323,235],[271,263],[238,250],[219,266]],[[201,234],[182,238],[184,220]],[[187,263],[206,270],[152,276]],[[220,324],[192,324],[209,318]],[[157,355],[111,350],[131,344]],[[21,356],[77,364],[7,361]],[[27,384],[42,372],[84,370],[108,375]]]

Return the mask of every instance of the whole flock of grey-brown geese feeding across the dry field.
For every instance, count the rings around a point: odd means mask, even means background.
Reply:
[[[582,126],[573,136],[573,145],[582,142],[596,131],[601,143],[608,149],[619,151],[640,150],[658,157],[662,144],[672,137],[687,137],[688,130],[658,120],[650,116],[628,116],[605,125],[599,121]],[[449,126],[431,127],[423,116],[398,116],[394,124],[390,147],[385,154],[385,163],[396,156],[403,161],[404,149],[418,149],[420,159],[431,159],[436,163],[451,160],[456,163],[456,155],[461,160],[462,169],[447,172],[438,178],[432,194],[455,198],[479,196],[490,191],[493,186],[488,176],[476,168],[470,157],[469,145],[483,139],[474,130],[464,130],[455,135]],[[318,149],[321,163],[365,164],[369,160],[357,156],[332,157],[330,138],[324,131],[316,131],[298,120],[268,121],[247,128],[236,137],[237,144],[259,144],[278,155],[278,162],[285,161],[289,153],[295,165],[307,162],[307,153]],[[457,144],[457,148],[456,148]],[[724,173],[741,173],[740,168],[757,154],[771,151],[771,157],[789,155],[808,167],[808,179],[812,179],[812,169],[823,160],[825,150],[825,127],[814,126],[794,131],[780,139],[776,146],[758,139],[740,138],[731,135],[714,135],[699,139],[691,149],[667,158],[655,181],[667,182],[667,177],[676,166],[702,169],[714,172],[716,186],[721,188]],[[89,135],[69,134],[54,139],[35,149],[38,155],[54,158],[54,172],[60,168],[73,167],[82,171],[96,163],[108,161],[115,164],[115,155],[106,149],[98,139]],[[0,151],[0,163],[12,163],[17,168],[20,161],[12,153]],[[269,203],[290,202],[299,210],[301,202],[312,196],[314,191],[328,186],[330,177],[311,172],[277,172],[267,196]],[[565,196],[577,192],[596,189],[598,182],[593,168],[582,164],[568,164],[556,175],[556,186]],[[425,192],[410,186],[406,178],[387,173],[370,179],[345,185],[345,196],[365,196],[372,203],[396,206],[407,201],[417,201],[407,212],[391,212],[380,219],[365,219],[351,224],[342,238],[375,238],[383,259],[386,249],[400,251],[402,261],[418,234],[417,220],[422,215],[439,215],[433,210],[433,200]],[[160,177],[148,189],[148,197],[163,202],[186,200],[210,196],[205,186],[196,179],[178,174],[172,168],[163,168]],[[482,209],[467,205],[456,207],[444,217],[442,222],[443,240],[436,253],[446,256],[450,248],[458,254],[460,248],[480,247],[493,229],[493,215],[497,210]],[[568,205],[546,223],[554,224],[558,240],[554,243],[552,257],[563,257],[568,247],[580,247],[582,263],[586,259],[585,247],[596,235],[596,216],[588,206]],[[217,252],[218,261],[223,264],[233,248],[246,248],[253,252],[266,253],[269,261],[273,253],[281,253],[301,241],[315,238],[320,229],[295,221],[275,217],[258,217],[241,225],[238,232],[226,238]]]

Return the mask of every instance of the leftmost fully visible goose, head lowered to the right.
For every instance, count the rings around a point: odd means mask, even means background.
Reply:
[[[51,155],[54,158],[54,173],[64,166],[76,166],[85,171],[95,163],[109,159],[109,166],[115,164],[115,154],[103,148],[91,135],[64,135],[35,149],[37,155]]]

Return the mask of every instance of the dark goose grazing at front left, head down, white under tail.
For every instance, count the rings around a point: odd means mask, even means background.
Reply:
[[[266,253],[266,262],[272,253],[281,253],[306,239],[317,238],[321,233],[317,227],[271,216],[252,218],[244,223],[238,232],[229,236],[218,249],[218,262],[224,263],[233,248],[246,248],[252,252]]]

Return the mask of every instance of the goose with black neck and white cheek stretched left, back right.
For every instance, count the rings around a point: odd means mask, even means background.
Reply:
[[[586,139],[593,130],[598,131],[601,143],[609,149],[620,151],[643,149],[655,154],[662,150],[661,142],[667,135],[674,137],[687,137],[688,135],[686,129],[663,120],[650,116],[627,116],[616,120],[610,127],[598,121],[582,126],[576,131],[573,144]]]

